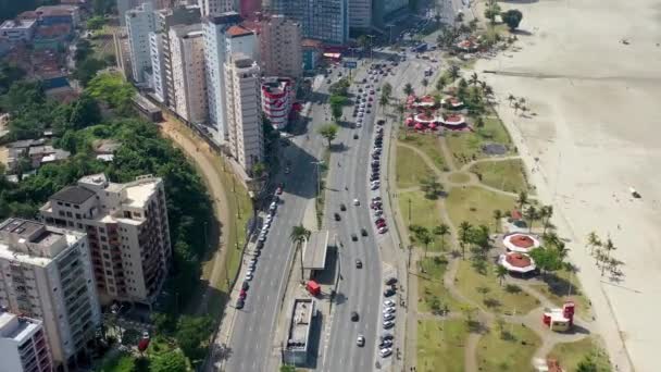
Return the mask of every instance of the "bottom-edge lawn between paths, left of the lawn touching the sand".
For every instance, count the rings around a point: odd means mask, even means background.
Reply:
[[[488,372],[532,371],[531,360],[541,339],[532,330],[520,324],[504,324],[508,337],[495,325],[477,344],[477,367]],[[568,370],[571,371],[571,370]]]

